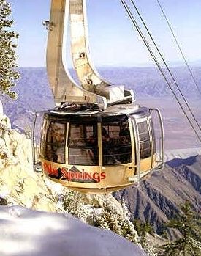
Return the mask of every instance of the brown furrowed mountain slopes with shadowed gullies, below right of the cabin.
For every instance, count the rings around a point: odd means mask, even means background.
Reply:
[[[150,222],[161,233],[162,224],[178,213],[186,200],[201,213],[201,156],[167,161],[164,169],[153,172],[139,189],[129,187],[115,192],[115,197],[126,201],[132,218]]]

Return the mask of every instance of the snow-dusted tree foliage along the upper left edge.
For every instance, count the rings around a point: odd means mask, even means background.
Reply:
[[[18,34],[12,31],[13,20],[10,19],[11,7],[7,0],[0,0],[0,93],[6,94],[10,98],[17,98],[17,94],[12,91],[15,81],[20,78],[16,69],[14,40]]]

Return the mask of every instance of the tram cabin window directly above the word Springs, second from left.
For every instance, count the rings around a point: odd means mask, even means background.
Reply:
[[[69,125],[69,164],[98,165],[97,125]]]

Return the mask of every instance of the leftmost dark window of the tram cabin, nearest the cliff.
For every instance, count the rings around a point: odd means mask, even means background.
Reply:
[[[45,159],[65,164],[66,124],[50,121],[47,126]]]

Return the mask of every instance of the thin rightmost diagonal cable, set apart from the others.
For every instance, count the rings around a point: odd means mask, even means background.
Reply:
[[[166,15],[165,12],[164,12],[164,9],[163,9],[163,7],[162,7],[162,4],[160,3],[159,0],[156,0],[156,2],[159,4],[159,8],[160,8],[160,10],[162,11],[162,14],[164,15],[164,19],[167,21],[167,26],[169,27],[170,32],[172,33],[172,36],[173,36],[174,39],[175,39],[176,45],[178,45],[178,49],[179,49],[179,51],[180,51],[180,53],[181,53],[181,56],[183,57],[183,61],[186,63],[186,67],[188,68],[189,73],[191,74],[191,78],[192,78],[193,81],[194,81],[195,87],[197,88],[198,92],[199,92],[200,95],[201,95],[200,88],[198,87],[197,81],[196,81],[196,79],[194,78],[194,74],[192,73],[191,67],[189,66],[189,63],[187,62],[186,56],[183,54],[183,51],[182,51],[182,49],[181,49],[181,45],[178,43],[178,40],[177,40],[177,38],[176,38],[176,36],[175,36],[175,33],[173,32],[173,29],[172,29],[172,27],[171,27],[171,25],[170,25],[170,21],[168,20],[167,15]]]

